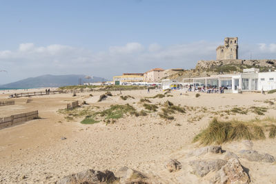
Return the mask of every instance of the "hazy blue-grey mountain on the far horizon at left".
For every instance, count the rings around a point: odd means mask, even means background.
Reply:
[[[64,85],[78,85],[81,81],[83,83],[94,83],[107,81],[101,77],[93,76],[92,79],[86,79],[83,74],[67,74],[67,75],[41,75],[37,77],[30,77],[16,81],[14,83],[7,83],[0,85],[0,88],[30,88],[30,87],[61,87]]]

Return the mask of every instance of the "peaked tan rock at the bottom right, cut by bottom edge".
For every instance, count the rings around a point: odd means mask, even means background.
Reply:
[[[224,183],[249,183],[250,178],[244,171],[241,163],[238,159],[229,159],[226,165],[221,167],[215,174],[214,178],[211,178],[210,183],[224,184]]]

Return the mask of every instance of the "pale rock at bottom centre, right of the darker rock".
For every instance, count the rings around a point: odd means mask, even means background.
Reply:
[[[119,178],[120,183],[145,183],[147,177],[137,170],[132,170],[128,167],[121,167],[121,169],[116,172],[117,178]]]

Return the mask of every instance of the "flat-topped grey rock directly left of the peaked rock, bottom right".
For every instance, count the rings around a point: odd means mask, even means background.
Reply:
[[[227,161],[215,159],[211,161],[190,161],[189,165],[193,168],[193,174],[203,177],[210,171],[220,170],[226,163]]]

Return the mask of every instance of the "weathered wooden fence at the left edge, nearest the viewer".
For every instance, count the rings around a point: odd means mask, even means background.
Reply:
[[[22,114],[14,114],[12,116],[3,117],[0,118],[0,129],[3,129],[5,127],[11,127],[13,125],[17,125],[19,123],[23,123],[26,121],[30,121],[32,119],[38,119],[39,118],[39,111],[32,111]]]

